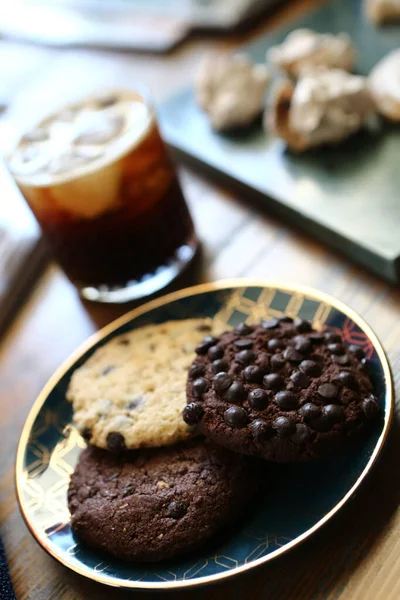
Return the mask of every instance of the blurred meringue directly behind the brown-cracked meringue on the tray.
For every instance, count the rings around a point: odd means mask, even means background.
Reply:
[[[296,29],[282,44],[270,48],[267,61],[296,79],[305,70],[318,67],[351,71],[355,56],[354,46],[346,33],[333,35]]]

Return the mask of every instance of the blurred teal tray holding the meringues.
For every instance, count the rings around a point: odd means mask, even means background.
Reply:
[[[376,28],[360,0],[336,0],[244,48],[255,60],[292,29],[347,31],[358,49],[357,72],[400,46],[400,26]],[[242,134],[213,132],[192,89],[160,111],[163,134],[179,159],[231,183],[261,204],[348,258],[391,282],[400,282],[400,127],[382,125],[335,147],[302,155],[265,133],[261,122]]]

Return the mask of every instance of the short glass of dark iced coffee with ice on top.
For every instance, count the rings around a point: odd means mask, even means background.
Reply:
[[[71,104],[26,132],[9,169],[86,299],[161,289],[192,260],[193,222],[143,91]]]

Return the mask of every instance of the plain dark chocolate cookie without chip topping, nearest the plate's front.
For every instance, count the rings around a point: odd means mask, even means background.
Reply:
[[[168,559],[239,516],[258,479],[257,461],[204,438],[120,456],[89,447],[68,490],[71,526],[119,558]]]

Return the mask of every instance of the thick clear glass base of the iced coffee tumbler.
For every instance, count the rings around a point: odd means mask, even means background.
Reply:
[[[154,273],[144,275],[138,281],[128,281],[124,285],[78,286],[79,293],[85,300],[120,304],[132,300],[140,300],[158,292],[185,270],[193,260],[198,248],[197,238],[180,246],[168,263],[158,267]]]

